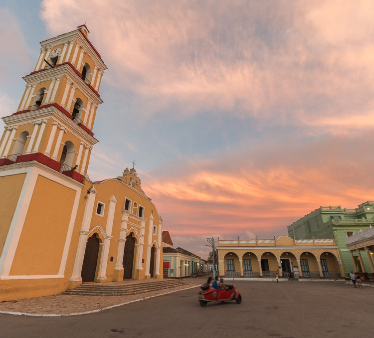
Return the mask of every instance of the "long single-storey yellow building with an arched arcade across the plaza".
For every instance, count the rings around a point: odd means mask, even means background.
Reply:
[[[220,240],[218,270],[229,278],[344,278],[334,239]]]

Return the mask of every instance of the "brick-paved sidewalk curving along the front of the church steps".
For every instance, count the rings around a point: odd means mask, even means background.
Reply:
[[[207,277],[186,278],[187,284],[166,288],[164,290],[141,293],[128,296],[78,296],[78,295],[53,295],[38,298],[21,299],[0,303],[0,313],[28,316],[71,316],[102,311],[108,308],[125,305],[148,298],[165,295],[172,292],[194,288],[205,283]],[[145,280],[149,282],[150,280]],[[145,281],[131,280],[131,284]],[[160,281],[155,279],[155,281]],[[126,282],[125,282],[126,283]],[[117,283],[116,283],[117,284]],[[196,291],[197,292],[197,291]]]

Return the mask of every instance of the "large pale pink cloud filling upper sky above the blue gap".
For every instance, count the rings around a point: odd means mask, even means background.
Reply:
[[[44,0],[42,8],[52,34],[88,18],[109,65],[104,81],[147,98],[139,114],[229,111],[335,134],[373,127],[372,1]],[[352,124],[353,111],[365,122]]]

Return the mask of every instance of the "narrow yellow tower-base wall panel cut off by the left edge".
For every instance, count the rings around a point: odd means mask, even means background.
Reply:
[[[0,252],[4,247],[25,177],[25,173],[0,177]]]

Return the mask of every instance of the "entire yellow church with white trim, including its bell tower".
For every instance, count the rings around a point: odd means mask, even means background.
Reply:
[[[85,25],[42,41],[0,139],[0,295],[52,295],[82,282],[162,278],[162,219],[135,169],[87,168],[102,75]]]

